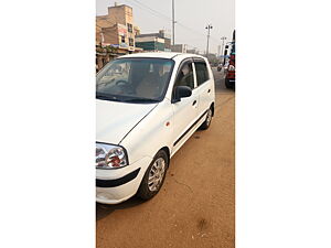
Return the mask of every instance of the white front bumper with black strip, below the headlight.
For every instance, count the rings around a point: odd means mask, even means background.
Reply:
[[[143,158],[116,170],[96,170],[96,202],[118,204],[134,196],[140,185],[151,158]]]

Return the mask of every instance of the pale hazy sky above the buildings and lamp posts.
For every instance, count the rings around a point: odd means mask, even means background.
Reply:
[[[107,14],[107,7],[115,2],[132,7],[134,24],[140,28],[142,34],[156,33],[161,29],[172,33],[172,0],[96,0],[96,14]],[[188,44],[189,48],[196,47],[205,52],[207,24],[213,26],[210,53],[217,53],[222,36],[231,41],[235,29],[234,0],[174,0],[174,9],[177,44]]]

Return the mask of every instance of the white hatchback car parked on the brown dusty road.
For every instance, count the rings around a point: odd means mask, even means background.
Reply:
[[[215,85],[202,56],[140,53],[97,74],[96,98],[96,201],[117,204],[160,191],[170,158],[210,127]]]

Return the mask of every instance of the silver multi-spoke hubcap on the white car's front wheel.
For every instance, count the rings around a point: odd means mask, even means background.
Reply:
[[[148,175],[148,187],[150,191],[158,191],[166,172],[166,161],[162,158],[159,158],[154,161],[151,166]]]

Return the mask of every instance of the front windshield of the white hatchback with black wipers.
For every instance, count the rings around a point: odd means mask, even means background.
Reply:
[[[98,99],[158,103],[163,99],[174,62],[168,58],[118,58],[96,77]]]

